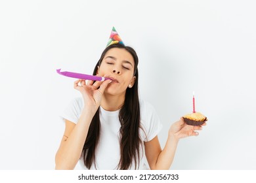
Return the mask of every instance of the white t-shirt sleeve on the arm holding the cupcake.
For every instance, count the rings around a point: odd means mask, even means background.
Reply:
[[[140,111],[142,115],[142,126],[144,127],[144,133],[146,133],[144,141],[148,142],[158,135],[163,125],[160,122],[160,118],[156,113],[156,110],[150,103],[142,102]]]

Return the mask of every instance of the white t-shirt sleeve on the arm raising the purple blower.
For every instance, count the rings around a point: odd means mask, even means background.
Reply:
[[[70,101],[70,103],[64,108],[62,114],[60,114],[60,118],[62,120],[69,120],[74,124],[77,124],[79,117],[81,116],[81,110],[83,108],[83,99],[77,97]]]

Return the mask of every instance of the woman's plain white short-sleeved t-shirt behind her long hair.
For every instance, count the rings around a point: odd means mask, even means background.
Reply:
[[[77,124],[81,110],[83,108],[83,98],[77,97],[68,105],[64,110],[61,117],[63,120],[69,120]],[[158,135],[161,130],[161,123],[154,107],[145,101],[140,100],[140,124],[144,131],[140,129],[140,137],[142,141],[151,141]],[[96,167],[94,163],[91,169],[110,170],[117,169],[120,159],[120,146],[119,146],[119,129],[121,124],[119,122],[119,110],[107,111],[100,107],[100,141],[96,150]],[[146,133],[146,134],[145,134]],[[140,164],[137,169],[149,169],[145,157],[144,144],[140,150]],[[80,158],[81,166],[87,169]],[[138,161],[137,161],[138,162]],[[131,169],[135,169],[134,162]]]

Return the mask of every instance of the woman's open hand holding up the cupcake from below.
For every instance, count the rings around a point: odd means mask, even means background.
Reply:
[[[171,125],[169,129],[169,135],[174,135],[177,140],[189,136],[197,136],[198,132],[196,132],[196,130],[201,130],[203,125],[206,125],[206,123],[199,126],[187,125],[184,122],[184,119],[181,118],[181,120]]]

